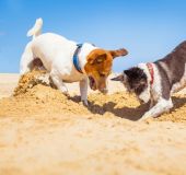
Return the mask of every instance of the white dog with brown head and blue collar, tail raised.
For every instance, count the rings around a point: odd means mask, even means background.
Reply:
[[[80,82],[81,101],[88,105],[88,83],[92,90],[107,92],[106,80],[112,71],[113,59],[126,56],[126,49],[105,50],[92,44],[78,45],[54,33],[40,34],[43,20],[37,19],[27,36],[33,39],[26,45],[21,58],[20,73],[31,71],[33,62],[40,59],[55,85],[65,94],[65,82]]]

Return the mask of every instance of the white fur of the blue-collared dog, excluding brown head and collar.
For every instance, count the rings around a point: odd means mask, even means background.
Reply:
[[[50,73],[54,83],[62,93],[68,93],[63,82],[79,81],[81,100],[88,104],[88,75],[84,72],[84,66],[86,56],[96,47],[88,43],[83,44],[79,54],[79,61],[83,71],[83,73],[80,73],[74,68],[72,60],[77,43],[53,33],[39,35],[42,25],[43,21],[39,19],[28,32],[28,36],[34,36],[34,39],[26,45],[22,55],[20,73],[24,74],[30,71],[30,63],[34,58],[39,58]]]

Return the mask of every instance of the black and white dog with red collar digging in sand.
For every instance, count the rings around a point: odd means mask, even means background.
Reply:
[[[112,79],[121,81],[139,101],[148,103],[150,109],[140,120],[158,117],[173,107],[171,95],[186,85],[186,42],[171,54],[153,63],[139,63]]]

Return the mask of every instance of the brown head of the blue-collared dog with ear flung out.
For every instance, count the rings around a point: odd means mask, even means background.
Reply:
[[[113,59],[120,56],[126,56],[128,52],[126,49],[118,50],[92,50],[84,66],[84,70],[90,80],[90,86],[92,90],[100,90],[102,93],[107,92],[107,77],[112,72]]]

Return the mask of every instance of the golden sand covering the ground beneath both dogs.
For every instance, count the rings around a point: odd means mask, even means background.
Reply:
[[[18,75],[0,74],[9,81],[5,91],[0,82],[0,174],[186,174],[186,95],[173,96],[171,113],[137,121],[148,104],[117,82],[108,95],[90,91],[86,108],[77,83],[66,96],[38,74],[14,92]]]

